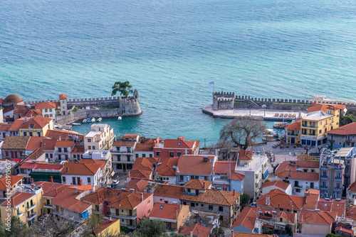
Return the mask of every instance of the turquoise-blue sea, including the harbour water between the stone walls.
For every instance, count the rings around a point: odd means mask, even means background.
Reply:
[[[0,97],[110,97],[127,80],[143,114],[104,119],[116,136],[211,145],[227,121],[201,113],[213,90],[356,101],[355,75],[355,0],[0,1]]]

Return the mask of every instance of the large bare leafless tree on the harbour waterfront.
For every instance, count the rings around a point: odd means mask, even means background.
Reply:
[[[251,117],[236,117],[226,123],[220,131],[220,141],[228,141],[242,150],[256,143],[258,138],[262,138],[266,125],[263,120],[252,119]]]

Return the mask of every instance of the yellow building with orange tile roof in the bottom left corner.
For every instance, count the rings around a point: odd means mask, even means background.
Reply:
[[[5,200],[0,206],[2,223],[9,223],[12,216],[31,226],[33,221],[42,214],[42,188],[19,187],[19,191]]]

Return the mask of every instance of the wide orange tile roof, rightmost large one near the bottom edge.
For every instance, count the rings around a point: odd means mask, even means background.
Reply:
[[[310,211],[301,210],[298,223],[322,224],[331,226],[336,219],[337,214],[328,211]]]

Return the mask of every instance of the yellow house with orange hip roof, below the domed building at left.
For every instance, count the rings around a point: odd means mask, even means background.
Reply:
[[[43,116],[30,118],[20,126],[20,136],[45,136],[48,129],[53,130],[53,120]]]

